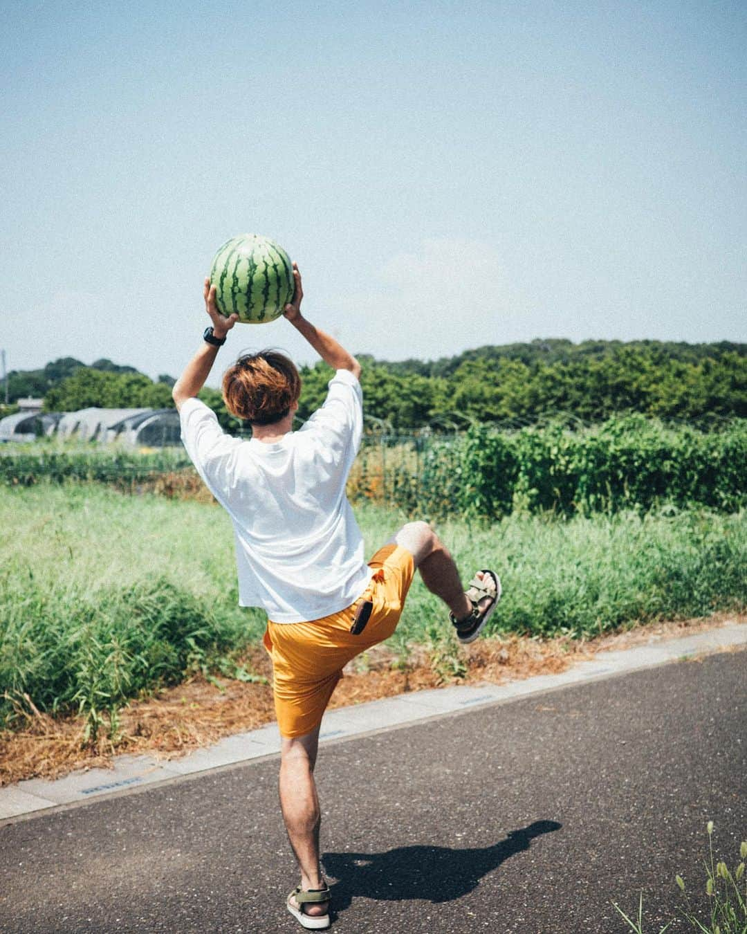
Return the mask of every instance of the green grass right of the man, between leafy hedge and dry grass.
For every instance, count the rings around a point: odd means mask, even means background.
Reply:
[[[646,516],[451,519],[438,530],[460,568],[500,573],[503,596],[490,632],[593,636],[635,622],[742,612],[745,518],[668,507]],[[411,605],[413,597],[419,603]],[[443,610],[416,582],[394,639],[422,640],[429,618],[443,619]]]

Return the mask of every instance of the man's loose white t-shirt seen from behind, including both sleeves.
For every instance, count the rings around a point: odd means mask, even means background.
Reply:
[[[226,434],[199,399],[180,417],[192,463],[233,522],[240,605],[298,623],[356,601],[372,573],[345,496],[363,431],[358,379],[338,370],[321,408],[273,444]]]

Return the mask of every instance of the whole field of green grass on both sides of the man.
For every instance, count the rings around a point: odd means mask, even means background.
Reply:
[[[358,517],[369,555],[406,521],[373,505]],[[42,483],[0,490],[0,528],[0,717],[25,692],[44,710],[79,709],[95,731],[98,712],[141,691],[231,672],[261,637],[263,614],[237,605],[233,532],[216,506]],[[593,635],[747,604],[743,514],[512,516],[438,531],[465,577],[500,573],[493,631]],[[447,614],[418,578],[390,644],[405,657],[441,632]]]

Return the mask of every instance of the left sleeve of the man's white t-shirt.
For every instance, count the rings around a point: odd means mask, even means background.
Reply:
[[[179,412],[181,440],[190,460],[218,502],[225,503],[238,438],[226,434],[218,425],[218,417],[199,399],[188,399]]]

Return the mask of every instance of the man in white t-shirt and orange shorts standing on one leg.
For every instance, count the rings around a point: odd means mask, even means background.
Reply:
[[[204,345],[174,386],[182,440],[192,462],[232,517],[239,602],[268,616],[264,644],[273,660],[275,711],[282,738],[280,804],[301,884],[289,912],[306,928],[330,925],[330,889],[319,865],[319,803],[314,783],[319,726],[343,667],[392,634],[415,569],[448,606],[461,642],[472,642],[500,599],[491,571],[465,593],[454,560],[425,522],[403,526],[365,563],[345,481],[363,427],[359,362],[301,314],[301,274],[285,317],[335,371],[325,403],[291,431],[301,380],[275,351],[240,357],[223,376],[229,411],[252,426],[233,438],[197,393],[236,316],[218,312],[204,280],[212,321]]]

